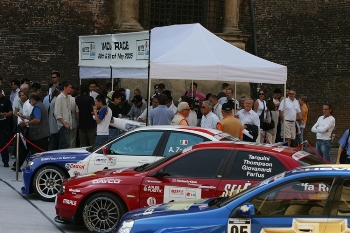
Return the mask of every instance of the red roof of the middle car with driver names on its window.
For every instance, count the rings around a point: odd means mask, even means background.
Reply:
[[[192,147],[192,149],[200,148],[227,148],[227,149],[254,149],[261,152],[278,152],[280,154],[291,155],[298,152],[297,149],[281,144],[255,143],[245,141],[214,141],[201,142]]]

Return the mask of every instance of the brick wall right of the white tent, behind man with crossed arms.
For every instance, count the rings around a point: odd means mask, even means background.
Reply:
[[[310,113],[305,139],[315,142],[312,125],[322,103],[333,104],[336,140],[349,128],[350,1],[253,0],[258,56],[288,68],[287,86],[306,95]],[[240,9],[240,29],[252,35],[249,0]],[[252,38],[247,51],[253,51]],[[263,82],[263,81],[262,81]],[[272,90],[274,86],[264,84]],[[334,146],[338,146],[337,143]]]

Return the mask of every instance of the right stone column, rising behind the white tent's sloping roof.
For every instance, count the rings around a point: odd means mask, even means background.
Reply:
[[[242,0],[225,0],[223,33],[238,31],[239,6]]]

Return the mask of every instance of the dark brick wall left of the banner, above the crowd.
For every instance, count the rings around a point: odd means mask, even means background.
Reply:
[[[10,91],[11,79],[28,77],[78,83],[78,36],[113,33],[114,1],[0,0],[0,75]],[[44,89],[46,90],[46,89]]]

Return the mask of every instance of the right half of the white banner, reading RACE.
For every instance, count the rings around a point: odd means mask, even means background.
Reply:
[[[149,58],[149,32],[112,35],[113,68],[147,68]]]

